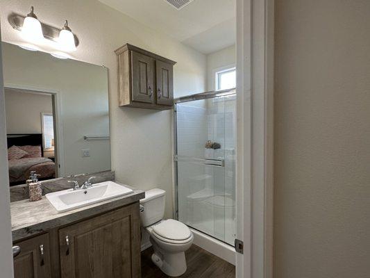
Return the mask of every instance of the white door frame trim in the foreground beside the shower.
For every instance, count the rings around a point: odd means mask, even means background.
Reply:
[[[274,180],[274,0],[237,0],[236,277],[271,278]]]

